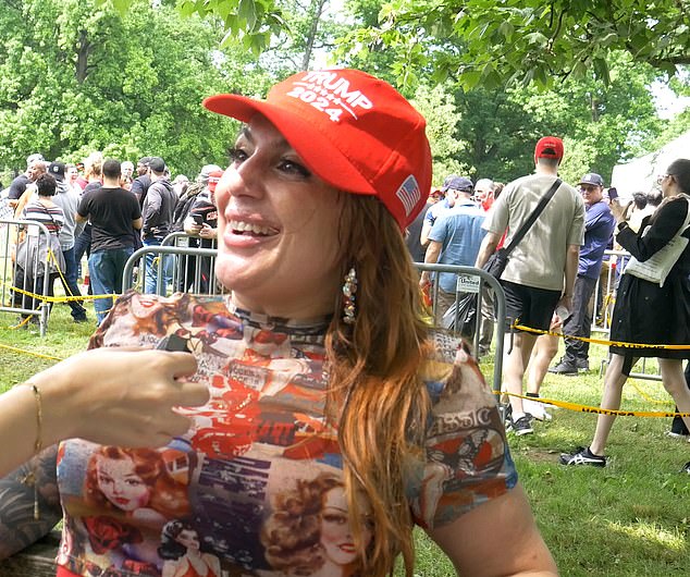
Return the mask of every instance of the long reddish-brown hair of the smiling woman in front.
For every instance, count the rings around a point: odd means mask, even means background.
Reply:
[[[412,519],[405,463],[423,452],[429,397],[418,377],[428,352],[417,274],[393,217],[373,197],[344,194],[343,278],[355,267],[356,321],[343,322],[338,296],[325,345],[329,407],[337,419],[348,506],[369,500],[373,542],[361,547],[361,517],[350,514],[362,575],[384,576],[402,553],[412,575]],[[337,408],[334,408],[337,407]]]

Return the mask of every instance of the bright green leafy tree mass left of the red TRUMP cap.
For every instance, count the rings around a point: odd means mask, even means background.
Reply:
[[[0,163],[103,149],[123,160],[159,155],[190,173],[225,162],[236,126],[200,103],[239,81],[251,89],[242,62],[250,56],[221,54],[213,21],[134,8],[123,19],[93,0],[0,1]],[[255,79],[262,91],[266,78]]]

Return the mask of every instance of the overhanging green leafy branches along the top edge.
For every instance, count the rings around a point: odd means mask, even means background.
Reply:
[[[135,0],[99,0],[126,11]],[[256,53],[289,30],[285,0],[177,0],[184,14],[213,14]],[[535,83],[551,87],[593,71],[608,82],[611,54],[674,75],[690,64],[690,0],[350,0],[380,9],[377,25],[353,32],[346,50],[395,51],[404,75],[424,66],[466,88]],[[448,49],[447,44],[459,49]]]

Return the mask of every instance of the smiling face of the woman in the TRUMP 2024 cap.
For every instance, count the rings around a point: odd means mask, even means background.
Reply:
[[[239,306],[289,318],[333,310],[342,193],[312,174],[266,118],[243,130],[215,197],[215,274]]]

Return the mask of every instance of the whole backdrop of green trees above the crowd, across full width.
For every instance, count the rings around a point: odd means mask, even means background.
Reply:
[[[236,124],[207,113],[202,98],[262,96],[330,56],[414,100],[429,122],[439,183],[451,172],[525,174],[544,134],[566,138],[568,177],[595,171],[607,180],[621,159],[690,125],[690,111],[663,123],[650,93],[686,61],[685,5],[646,3],[640,34],[658,37],[634,51],[625,35],[604,42],[586,32],[596,22],[632,29],[642,3],[623,0],[0,0],[0,167],[23,168],[36,151],[79,160],[95,149],[160,155],[188,174],[223,164]],[[508,24],[494,26],[500,17]],[[552,38],[545,48],[527,38],[537,28]],[[688,75],[669,85],[690,90]]]

